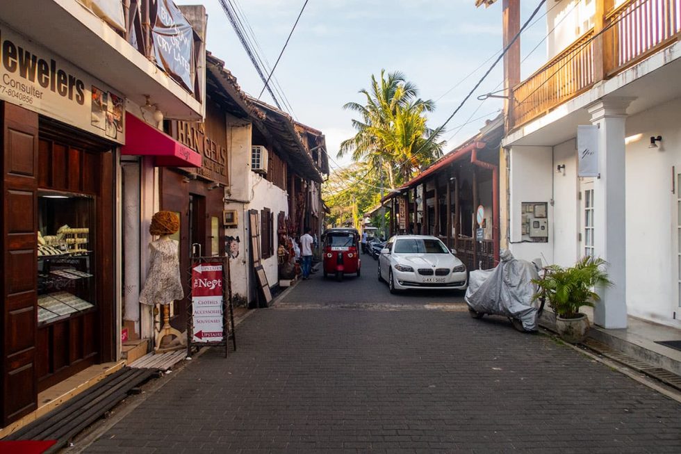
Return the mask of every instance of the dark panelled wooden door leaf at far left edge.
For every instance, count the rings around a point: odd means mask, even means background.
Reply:
[[[3,214],[2,422],[37,407],[38,114],[1,104]]]

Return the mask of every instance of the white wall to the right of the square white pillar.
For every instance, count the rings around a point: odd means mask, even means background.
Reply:
[[[678,207],[672,166],[681,172],[681,99],[627,118],[626,148],[627,311],[668,325],[678,318]],[[662,136],[650,149],[650,136]],[[673,311],[677,320],[673,320]]]

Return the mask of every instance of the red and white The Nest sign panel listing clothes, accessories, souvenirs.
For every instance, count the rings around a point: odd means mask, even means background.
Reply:
[[[224,337],[222,263],[192,268],[192,342],[220,342]]]

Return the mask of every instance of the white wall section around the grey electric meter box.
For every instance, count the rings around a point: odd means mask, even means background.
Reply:
[[[520,213],[522,202],[550,202],[552,192],[552,173],[555,172],[552,160],[552,147],[511,148],[511,236],[509,249],[516,259],[534,260],[541,257],[543,262],[553,263],[553,207],[548,203],[548,243],[520,243],[521,222]],[[504,232],[502,232],[504,234]],[[543,255],[543,257],[542,257]]]

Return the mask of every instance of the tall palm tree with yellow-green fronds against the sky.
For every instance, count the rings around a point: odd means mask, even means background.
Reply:
[[[420,117],[425,112],[433,111],[434,102],[418,98],[416,86],[407,81],[402,72],[390,72],[386,76],[385,70],[381,70],[380,80],[374,75],[371,76],[370,91],[363,89],[359,92],[366,97],[366,105],[349,102],[343,106],[359,113],[361,120],[352,120],[356,134],[341,143],[338,157],[352,152],[354,161],[366,162],[377,172],[386,170],[388,184],[395,188],[396,176],[393,165],[402,165],[406,163],[406,159],[411,159],[411,155],[405,158],[403,154],[409,147],[400,147],[400,151],[395,148],[396,122],[400,118],[406,120],[413,114]],[[427,131],[425,116],[421,124],[422,136]],[[418,142],[416,139],[412,141]],[[412,147],[411,151],[416,151],[416,148]],[[402,168],[404,167],[408,167],[409,172],[413,168],[402,165]]]

